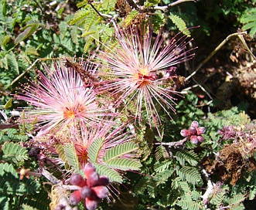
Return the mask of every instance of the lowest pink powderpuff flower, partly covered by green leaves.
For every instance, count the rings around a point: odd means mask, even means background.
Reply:
[[[102,140],[100,149],[96,152],[97,164],[106,164],[104,162],[105,154],[114,147],[125,144],[129,141],[135,141],[135,134],[132,130],[126,130],[127,124],[119,124],[114,119],[108,120],[109,124],[97,124],[89,128],[81,127],[80,134],[73,133],[71,139],[73,141],[77,158],[80,162],[80,168],[88,163],[90,154],[90,147],[93,147],[95,141]],[[94,145],[95,147],[95,145]],[[120,158],[138,158],[138,148],[135,151],[129,151],[128,154],[123,154]]]

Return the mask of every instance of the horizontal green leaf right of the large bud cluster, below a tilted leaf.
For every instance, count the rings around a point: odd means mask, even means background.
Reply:
[[[114,158],[108,161],[108,166],[114,169],[119,169],[123,171],[134,170],[138,171],[142,167],[139,161],[129,159],[129,158]]]

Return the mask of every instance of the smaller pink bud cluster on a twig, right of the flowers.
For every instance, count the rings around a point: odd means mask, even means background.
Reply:
[[[194,120],[190,125],[189,130],[180,130],[180,134],[183,137],[189,138],[192,144],[197,144],[198,142],[202,142],[204,140],[202,134],[204,134],[205,131],[205,127],[199,127],[199,123]]]

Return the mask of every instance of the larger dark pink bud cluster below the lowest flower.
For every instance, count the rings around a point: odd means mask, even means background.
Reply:
[[[70,205],[77,205],[79,202],[85,202],[88,210],[97,208],[97,202],[108,196],[109,178],[99,176],[93,164],[86,164],[84,167],[83,178],[80,174],[72,174],[70,185],[77,185],[79,190],[73,191],[70,195]]]

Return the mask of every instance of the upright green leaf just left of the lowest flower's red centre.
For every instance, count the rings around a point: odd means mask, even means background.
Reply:
[[[67,159],[67,163],[75,170],[80,170],[80,164],[77,158],[77,152],[73,144],[65,144],[64,145],[64,153]]]

